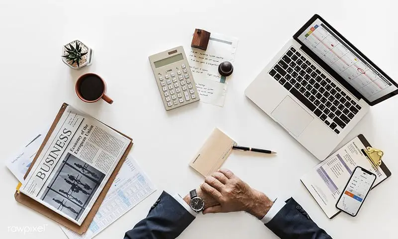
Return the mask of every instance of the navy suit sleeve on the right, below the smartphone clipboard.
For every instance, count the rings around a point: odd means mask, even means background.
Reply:
[[[265,226],[281,239],[331,239],[293,198]]]

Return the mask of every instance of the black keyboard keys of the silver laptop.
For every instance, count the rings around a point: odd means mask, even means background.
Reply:
[[[336,134],[359,112],[361,106],[294,47],[269,74]]]

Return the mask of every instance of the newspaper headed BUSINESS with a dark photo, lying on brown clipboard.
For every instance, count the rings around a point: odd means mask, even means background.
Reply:
[[[130,142],[67,106],[19,190],[80,226]]]

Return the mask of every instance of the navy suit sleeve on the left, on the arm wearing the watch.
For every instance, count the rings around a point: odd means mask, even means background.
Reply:
[[[124,239],[175,239],[194,219],[176,199],[163,191],[148,216],[126,232]]]

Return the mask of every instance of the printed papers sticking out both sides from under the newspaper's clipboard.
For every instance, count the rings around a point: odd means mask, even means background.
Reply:
[[[37,134],[14,158],[5,162],[9,170],[22,183],[23,176],[43,142],[46,132],[47,130],[44,130]],[[60,227],[69,239],[92,239],[155,191],[155,186],[145,172],[136,160],[128,155],[90,224],[89,230],[79,235],[63,226]]]

